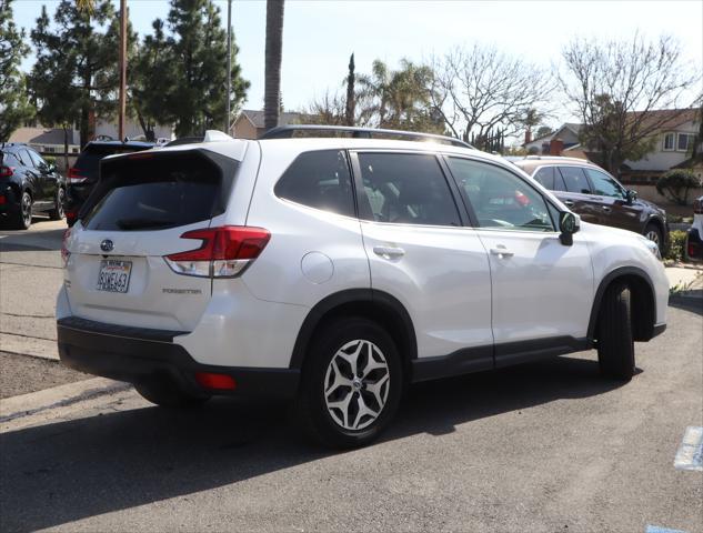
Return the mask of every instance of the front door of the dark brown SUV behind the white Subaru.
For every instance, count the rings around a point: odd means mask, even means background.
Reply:
[[[593,184],[594,194],[603,199],[600,223],[640,233],[642,205],[627,203],[626,191],[610,174],[595,169],[584,170]]]

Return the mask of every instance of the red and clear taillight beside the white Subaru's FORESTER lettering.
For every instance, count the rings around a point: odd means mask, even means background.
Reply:
[[[259,257],[271,233],[263,228],[223,225],[188,231],[181,239],[200,239],[202,245],[165,255],[163,259],[173,272],[200,278],[235,278]]]

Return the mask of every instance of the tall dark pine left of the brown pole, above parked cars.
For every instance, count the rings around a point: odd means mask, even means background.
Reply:
[[[30,89],[46,125],[68,129],[79,123],[84,145],[94,134],[91,117],[114,113],[118,68],[116,13],[110,0],[96,0],[92,11],[61,0],[51,28],[46,7],[31,32],[37,62]],[[108,24],[107,32],[99,31]]]

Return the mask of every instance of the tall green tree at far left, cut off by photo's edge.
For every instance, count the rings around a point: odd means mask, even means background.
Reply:
[[[0,141],[7,141],[33,115],[24,76],[19,69],[29,48],[23,41],[24,32],[12,21],[11,2],[0,2]]]

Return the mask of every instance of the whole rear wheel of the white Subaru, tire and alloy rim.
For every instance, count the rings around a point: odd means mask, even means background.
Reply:
[[[395,343],[375,322],[339,319],[315,333],[302,372],[298,422],[312,440],[359,447],[388,428],[403,372]]]

